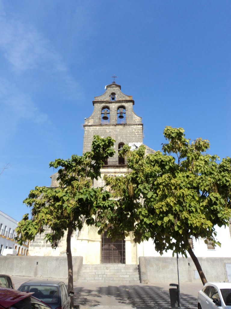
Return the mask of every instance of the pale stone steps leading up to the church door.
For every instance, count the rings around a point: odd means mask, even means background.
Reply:
[[[79,281],[114,281],[124,283],[140,283],[138,265],[85,264],[82,266],[82,269],[80,271]]]

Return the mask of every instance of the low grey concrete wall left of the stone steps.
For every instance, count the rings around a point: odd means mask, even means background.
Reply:
[[[73,278],[77,281],[82,256],[72,256]],[[66,279],[67,256],[0,256],[0,273],[11,276]]]

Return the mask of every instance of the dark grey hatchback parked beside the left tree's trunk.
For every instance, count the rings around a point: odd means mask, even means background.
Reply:
[[[74,293],[67,292],[65,283],[55,280],[30,280],[22,283],[18,288],[22,292],[33,292],[33,296],[51,306],[52,309],[69,309]]]

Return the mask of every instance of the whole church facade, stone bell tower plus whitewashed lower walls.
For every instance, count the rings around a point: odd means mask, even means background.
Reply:
[[[143,144],[142,118],[133,111],[134,100],[131,95],[125,95],[121,86],[113,82],[106,86],[103,95],[93,100],[94,110],[90,117],[85,119],[83,153],[91,150],[94,135],[101,137],[111,136],[115,140],[115,155],[104,162],[99,180],[94,186],[103,186],[103,175],[123,175],[127,171],[126,161],[119,158],[119,150],[124,144],[131,149]],[[146,146],[146,153],[154,150]],[[51,186],[57,186],[57,175],[51,176]],[[56,250],[44,241],[44,235],[37,235],[30,243],[31,256],[59,256],[66,254],[66,241],[63,239]],[[191,239],[191,247],[197,257],[231,257],[231,238],[229,228],[218,228],[217,239],[222,243],[220,247],[205,244],[203,239]],[[156,252],[152,240],[134,243],[132,233],[123,240],[111,241],[107,238],[107,231],[98,234],[95,226],[84,226],[82,231],[76,231],[71,239],[73,256],[83,256],[83,264],[139,264],[139,257],[160,256]],[[164,256],[172,256],[172,252],[165,252]]]

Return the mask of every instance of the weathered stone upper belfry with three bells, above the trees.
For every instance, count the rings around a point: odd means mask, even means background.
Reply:
[[[131,95],[121,92],[120,85],[113,82],[107,85],[104,94],[95,97],[92,103],[93,113],[85,119],[83,125],[83,153],[91,150],[94,135],[111,136],[115,140],[115,155],[109,159],[114,159],[112,165],[123,165],[122,158],[118,158],[118,151],[123,145],[139,146],[143,143],[142,118],[133,111],[134,100]],[[107,164],[109,165],[109,161]]]

